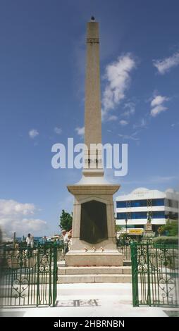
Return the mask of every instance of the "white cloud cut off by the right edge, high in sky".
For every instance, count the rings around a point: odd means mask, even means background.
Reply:
[[[179,65],[179,52],[164,58],[163,60],[154,60],[154,67],[157,68],[161,75],[167,73],[171,68]]]

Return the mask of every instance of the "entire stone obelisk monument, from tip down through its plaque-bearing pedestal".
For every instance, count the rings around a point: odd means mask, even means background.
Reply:
[[[122,266],[116,249],[113,194],[119,185],[104,179],[101,149],[99,23],[87,23],[85,84],[85,166],[82,179],[68,185],[74,196],[72,246],[66,266]],[[92,144],[99,144],[98,148]]]

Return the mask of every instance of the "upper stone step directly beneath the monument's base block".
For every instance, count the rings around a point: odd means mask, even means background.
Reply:
[[[129,275],[130,266],[121,267],[63,267],[58,266],[58,275]]]

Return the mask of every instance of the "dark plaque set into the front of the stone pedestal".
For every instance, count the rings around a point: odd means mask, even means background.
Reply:
[[[106,204],[92,200],[81,205],[80,240],[97,244],[108,239]]]

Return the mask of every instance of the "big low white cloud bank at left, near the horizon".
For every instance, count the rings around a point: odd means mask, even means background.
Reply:
[[[47,229],[47,222],[39,218],[33,218],[36,211],[34,204],[22,204],[15,200],[0,199],[0,226],[10,235],[26,235],[32,232],[33,235],[44,233]]]

